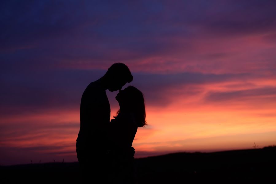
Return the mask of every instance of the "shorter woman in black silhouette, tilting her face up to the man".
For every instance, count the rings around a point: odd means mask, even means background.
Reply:
[[[138,127],[146,124],[143,94],[134,86],[121,90],[116,100],[120,109],[109,124],[109,181],[136,183],[134,148],[132,142]]]

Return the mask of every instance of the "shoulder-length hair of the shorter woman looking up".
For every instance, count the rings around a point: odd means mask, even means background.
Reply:
[[[128,86],[124,89],[124,106],[126,106],[127,111],[134,114],[135,122],[138,127],[144,127],[146,123],[146,109],[143,93],[134,86]],[[121,113],[121,109],[118,110],[116,116],[118,117]]]

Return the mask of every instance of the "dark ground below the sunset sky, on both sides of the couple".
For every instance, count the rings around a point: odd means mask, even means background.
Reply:
[[[276,183],[276,146],[135,159],[138,183]],[[80,183],[78,163],[0,167],[0,183]]]

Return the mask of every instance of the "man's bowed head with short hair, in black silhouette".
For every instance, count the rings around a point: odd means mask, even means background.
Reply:
[[[123,63],[114,63],[108,68],[104,78],[107,81],[107,88],[109,91],[121,90],[126,82],[131,82],[133,76],[129,68]]]

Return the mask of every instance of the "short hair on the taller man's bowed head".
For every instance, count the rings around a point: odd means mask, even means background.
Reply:
[[[118,79],[126,80],[130,83],[133,80],[133,76],[129,68],[124,63],[114,63],[108,68],[104,75],[105,77],[118,77]]]

